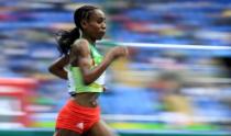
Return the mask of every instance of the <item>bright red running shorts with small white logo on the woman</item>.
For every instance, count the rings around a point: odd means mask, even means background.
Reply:
[[[56,120],[56,128],[65,128],[82,134],[95,123],[99,122],[100,107],[86,107],[68,100],[61,110]]]

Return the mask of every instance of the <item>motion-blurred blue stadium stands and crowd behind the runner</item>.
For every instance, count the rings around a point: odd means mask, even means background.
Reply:
[[[99,49],[129,46],[108,69],[102,118],[122,136],[228,136],[231,132],[230,0],[0,0],[0,135],[48,136],[68,99],[47,71],[54,33],[73,12],[107,13]],[[144,44],[145,43],[145,44]]]

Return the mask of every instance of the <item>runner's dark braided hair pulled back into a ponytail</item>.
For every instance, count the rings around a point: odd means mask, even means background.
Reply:
[[[92,11],[98,9],[97,7],[94,5],[84,5],[78,9],[76,9],[75,14],[74,14],[74,21],[76,27],[74,27],[70,31],[59,31],[56,34],[56,39],[58,43],[58,50],[61,52],[62,55],[67,55],[70,49],[70,45],[80,37],[80,32],[82,31],[81,27],[81,21],[82,20],[89,20],[90,15],[92,14]]]

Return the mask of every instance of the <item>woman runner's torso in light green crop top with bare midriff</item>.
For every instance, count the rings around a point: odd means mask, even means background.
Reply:
[[[89,57],[88,60],[92,65],[92,68],[99,65],[102,61],[102,56],[98,50],[89,44]],[[97,99],[100,92],[103,91],[103,87],[99,86],[97,81],[92,82],[89,86],[82,84],[82,80],[79,80],[80,69],[78,67],[78,55],[72,54],[70,52],[70,66],[68,69],[68,79],[69,79],[69,93],[73,94],[73,99],[80,105],[95,107],[98,105]],[[78,73],[76,76],[76,73]],[[76,76],[76,77],[75,77]],[[98,79],[100,80],[100,78]]]

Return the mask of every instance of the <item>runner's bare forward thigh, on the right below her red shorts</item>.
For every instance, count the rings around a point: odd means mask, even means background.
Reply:
[[[88,136],[118,136],[118,135],[103,121],[99,121],[88,131]]]

